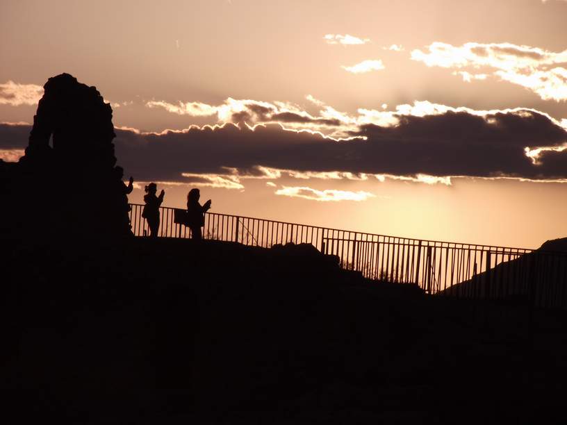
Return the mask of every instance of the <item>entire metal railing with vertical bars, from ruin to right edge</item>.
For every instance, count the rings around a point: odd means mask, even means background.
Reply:
[[[143,207],[131,204],[136,236],[149,234]],[[175,210],[160,208],[158,235],[190,238],[188,227],[174,223]],[[203,238],[264,248],[309,243],[338,256],[343,269],[377,281],[413,283],[428,294],[528,297],[537,306],[567,308],[567,253],[417,240],[220,213],[205,214]]]

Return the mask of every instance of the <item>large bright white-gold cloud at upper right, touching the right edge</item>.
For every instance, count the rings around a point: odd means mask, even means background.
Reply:
[[[469,42],[462,46],[434,42],[427,50],[411,52],[413,60],[428,67],[474,70],[459,72],[465,81],[484,79],[478,69],[486,69],[493,76],[532,90],[543,100],[567,100],[567,50],[558,53],[539,47],[511,43]]]

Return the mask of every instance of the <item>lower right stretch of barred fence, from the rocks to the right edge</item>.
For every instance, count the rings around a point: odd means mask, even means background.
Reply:
[[[356,235],[324,238],[323,252],[367,278],[414,283],[429,294],[567,308],[567,253]]]

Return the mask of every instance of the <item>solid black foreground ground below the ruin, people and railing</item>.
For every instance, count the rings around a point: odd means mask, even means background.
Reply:
[[[563,312],[371,283],[310,246],[56,245],[1,245],[3,423],[567,421]]]

